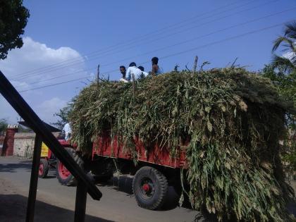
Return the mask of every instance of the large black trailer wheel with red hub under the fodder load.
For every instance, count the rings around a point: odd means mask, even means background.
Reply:
[[[168,181],[156,168],[144,166],[137,171],[132,180],[132,191],[139,206],[156,210],[164,204]]]

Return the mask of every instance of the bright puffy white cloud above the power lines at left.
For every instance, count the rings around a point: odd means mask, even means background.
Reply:
[[[23,42],[21,49],[9,51],[8,57],[0,61],[2,72],[10,80],[34,82],[36,86],[39,80],[44,84],[44,80],[49,78],[60,78],[61,73],[66,75],[85,68],[84,58],[74,49],[69,47],[51,49],[30,37],[25,37]],[[76,76],[78,75],[81,73],[77,73]],[[52,81],[49,80],[47,83]]]

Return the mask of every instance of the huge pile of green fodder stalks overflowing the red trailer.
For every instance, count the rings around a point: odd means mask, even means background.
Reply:
[[[90,153],[108,130],[129,152],[137,136],[148,152],[158,143],[178,156],[177,147],[190,141],[186,176],[195,209],[220,221],[289,221],[279,140],[290,110],[270,80],[243,68],[145,78],[135,94],[132,83],[106,81],[75,101],[73,142]]]

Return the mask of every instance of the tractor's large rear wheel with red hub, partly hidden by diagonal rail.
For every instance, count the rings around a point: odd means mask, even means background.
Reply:
[[[83,160],[80,158],[78,154],[76,154],[75,149],[71,147],[66,147],[65,148],[72,156],[74,161],[81,167],[83,168]],[[77,180],[75,177],[68,171],[66,166],[62,164],[61,161],[57,160],[56,162],[56,177],[58,178],[58,182],[61,183],[61,185],[66,185],[66,186],[75,186],[77,185]]]

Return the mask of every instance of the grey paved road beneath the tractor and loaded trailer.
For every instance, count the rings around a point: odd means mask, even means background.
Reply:
[[[13,221],[11,212],[13,216],[19,214],[18,218],[25,216],[30,171],[31,161],[0,157],[0,221]],[[132,197],[131,184],[132,178],[121,177],[98,185],[103,197],[97,202],[87,196],[85,221],[204,221],[199,219],[198,211],[178,206],[178,197],[171,187],[162,211],[140,208]],[[13,198],[16,200],[13,201]],[[49,172],[48,178],[39,179],[37,201],[35,221],[73,221],[75,187],[59,185],[54,171]],[[16,209],[9,211],[8,208]]]

